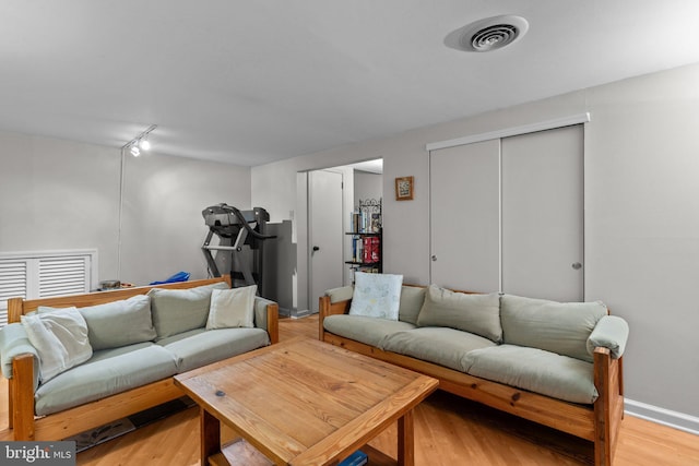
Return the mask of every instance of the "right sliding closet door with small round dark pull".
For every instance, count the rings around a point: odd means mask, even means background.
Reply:
[[[501,141],[502,291],[583,299],[583,127]]]

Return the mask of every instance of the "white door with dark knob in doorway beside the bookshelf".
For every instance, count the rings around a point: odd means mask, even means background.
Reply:
[[[342,174],[318,170],[308,174],[309,307],[318,311],[318,299],[343,285]]]

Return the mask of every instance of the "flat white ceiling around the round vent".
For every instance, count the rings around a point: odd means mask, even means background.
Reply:
[[[490,53],[443,45],[517,14]],[[2,0],[0,129],[261,165],[699,62],[696,0]]]

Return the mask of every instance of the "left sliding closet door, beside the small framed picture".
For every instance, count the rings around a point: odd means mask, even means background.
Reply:
[[[495,140],[430,153],[431,283],[499,289],[499,151]]]

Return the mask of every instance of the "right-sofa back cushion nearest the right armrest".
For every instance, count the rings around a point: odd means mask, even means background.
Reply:
[[[592,362],[588,337],[607,314],[602,302],[555,302],[502,295],[505,343],[545,349]]]

